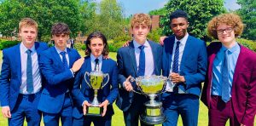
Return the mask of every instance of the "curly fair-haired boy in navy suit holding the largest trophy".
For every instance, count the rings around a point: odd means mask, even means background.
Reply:
[[[136,83],[130,83],[129,77],[161,74],[162,47],[158,43],[147,40],[151,20],[148,14],[134,14],[131,19],[131,31],[134,39],[129,46],[118,50],[119,97],[116,105],[124,112],[126,126],[137,126],[139,115],[144,112],[143,103],[147,98],[136,94]],[[145,125],[141,122],[142,125]]]

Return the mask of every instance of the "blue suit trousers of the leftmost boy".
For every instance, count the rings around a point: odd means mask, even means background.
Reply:
[[[24,119],[28,126],[39,126],[41,112],[38,111],[38,101],[41,92],[36,94],[19,94],[12,117],[8,119],[9,126],[23,126]]]

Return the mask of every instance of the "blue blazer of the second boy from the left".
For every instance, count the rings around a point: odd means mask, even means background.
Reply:
[[[80,58],[75,49],[68,49],[69,67]],[[73,73],[65,69],[55,47],[45,50],[39,59],[39,66],[46,79],[38,110],[47,113],[61,112],[67,89],[73,89]]]

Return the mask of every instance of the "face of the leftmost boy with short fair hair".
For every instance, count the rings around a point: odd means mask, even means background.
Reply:
[[[22,43],[26,47],[31,48],[36,41],[36,38],[38,36],[38,31],[34,26],[23,26],[21,27],[19,34],[20,34]]]

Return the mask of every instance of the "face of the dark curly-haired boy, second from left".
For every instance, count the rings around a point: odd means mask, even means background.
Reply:
[[[69,36],[66,34],[52,35],[52,39],[55,41],[55,47],[64,50],[67,47],[67,40]]]

